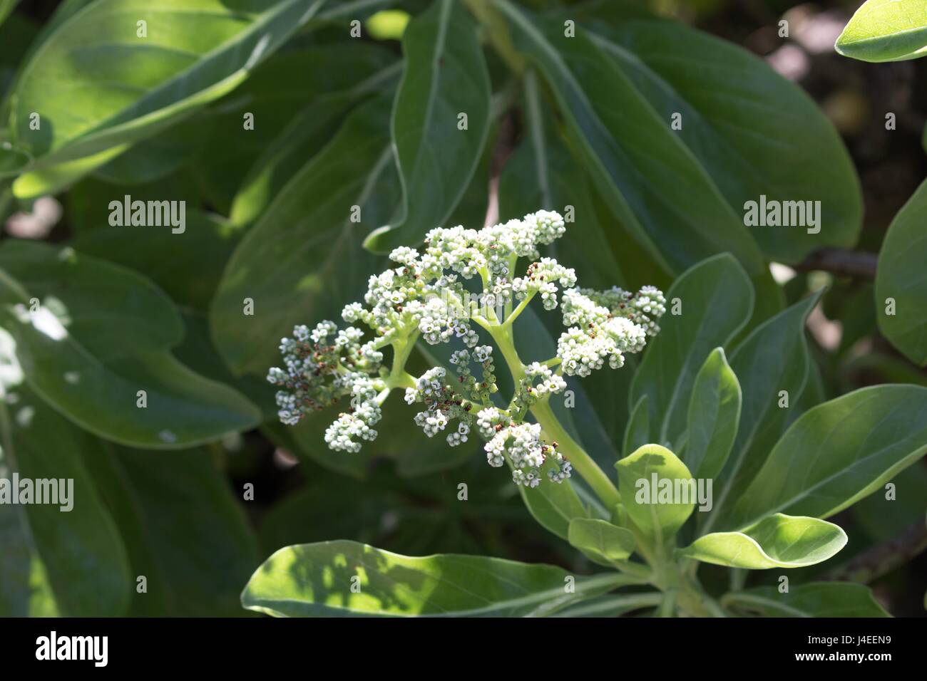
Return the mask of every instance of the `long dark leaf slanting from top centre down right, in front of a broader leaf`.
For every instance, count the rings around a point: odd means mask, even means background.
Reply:
[[[743,220],[615,61],[582,32],[566,37],[561,22],[532,19],[506,0],[496,5],[515,47],[551,86],[583,164],[622,225],[671,271],[730,251],[770,294],[757,307],[776,309],[779,295]]]

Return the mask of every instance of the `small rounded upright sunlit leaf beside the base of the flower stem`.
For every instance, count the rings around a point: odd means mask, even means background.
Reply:
[[[644,445],[615,465],[618,491],[630,519],[644,535],[653,537],[655,546],[662,546],[692,515],[696,498],[692,473],[659,445]]]

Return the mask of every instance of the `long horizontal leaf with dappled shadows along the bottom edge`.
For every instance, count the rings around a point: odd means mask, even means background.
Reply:
[[[567,593],[572,579],[574,592]],[[289,617],[525,617],[555,612],[627,581],[622,574],[573,577],[552,565],[453,554],[413,558],[328,541],[278,550],[252,575],[241,601],[248,610]]]

